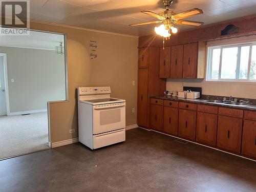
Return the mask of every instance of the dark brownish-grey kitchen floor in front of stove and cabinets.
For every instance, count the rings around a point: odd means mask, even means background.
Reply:
[[[256,162],[156,132],[94,152],[80,143],[0,161],[1,191],[256,191]]]

